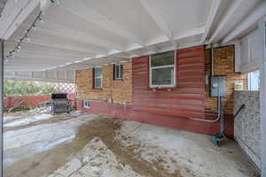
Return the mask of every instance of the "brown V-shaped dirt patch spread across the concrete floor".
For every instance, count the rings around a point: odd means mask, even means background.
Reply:
[[[43,120],[44,122],[50,120]],[[79,150],[90,142],[94,137],[98,137],[106,144],[109,150],[112,150],[122,165],[130,165],[131,168],[143,176],[153,177],[181,177],[180,173],[168,173],[163,169],[158,161],[148,162],[141,158],[136,152],[137,146],[124,148],[121,142],[115,140],[116,132],[121,128],[121,119],[109,119],[100,117],[90,120],[78,128],[78,134],[74,141],[59,144],[52,150],[46,150],[34,157],[20,160],[19,162],[7,166],[4,169],[5,177],[37,177],[54,172],[62,165],[65,165],[71,156],[74,156]],[[128,138],[128,137],[125,137]]]

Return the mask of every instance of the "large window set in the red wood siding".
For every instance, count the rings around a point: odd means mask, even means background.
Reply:
[[[176,55],[168,51],[150,56],[150,87],[169,88],[176,86]]]

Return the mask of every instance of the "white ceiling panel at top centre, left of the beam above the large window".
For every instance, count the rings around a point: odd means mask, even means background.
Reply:
[[[138,0],[83,0],[83,2],[145,41],[161,35],[160,28]]]

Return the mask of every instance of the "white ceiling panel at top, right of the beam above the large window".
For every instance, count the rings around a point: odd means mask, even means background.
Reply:
[[[149,4],[166,22],[174,35],[205,26],[212,0],[139,0]]]

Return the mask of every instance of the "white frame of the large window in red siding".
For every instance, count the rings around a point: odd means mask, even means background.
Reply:
[[[165,51],[165,52],[173,52],[173,51]],[[176,87],[176,50],[175,52],[175,58],[174,58],[174,65],[160,65],[160,66],[152,66],[152,55],[149,56],[149,79],[150,79],[150,88],[175,88]],[[153,69],[160,69],[160,68],[167,68],[167,67],[173,67],[174,66],[174,83],[171,85],[153,85]]]

